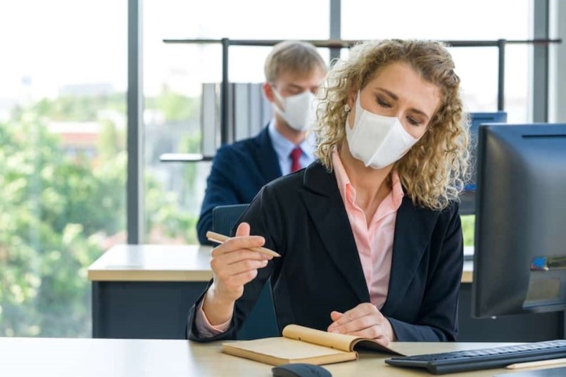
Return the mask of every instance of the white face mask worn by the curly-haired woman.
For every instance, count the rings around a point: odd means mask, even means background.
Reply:
[[[350,153],[366,167],[374,169],[382,169],[401,159],[419,141],[405,131],[397,117],[364,110],[360,105],[360,91],[356,97],[353,129],[346,119],[346,138]]]

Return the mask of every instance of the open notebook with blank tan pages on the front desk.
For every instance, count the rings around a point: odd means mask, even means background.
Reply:
[[[392,348],[394,344],[384,347],[375,340],[327,333],[298,325],[285,326],[283,336],[279,338],[223,343],[222,352],[271,365],[289,363],[322,365],[358,359],[355,347],[404,356]]]

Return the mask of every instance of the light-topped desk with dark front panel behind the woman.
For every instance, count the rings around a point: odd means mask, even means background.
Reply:
[[[212,276],[210,246],[115,245],[88,269],[94,338],[182,339],[187,313]],[[462,341],[563,338],[562,315],[472,319],[473,263],[465,262],[458,321]]]

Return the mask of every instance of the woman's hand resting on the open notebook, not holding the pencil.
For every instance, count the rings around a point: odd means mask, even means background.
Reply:
[[[396,340],[389,320],[370,302],[364,302],[344,313],[332,312],[330,318],[333,322],[328,326],[329,333],[370,338],[382,345]]]

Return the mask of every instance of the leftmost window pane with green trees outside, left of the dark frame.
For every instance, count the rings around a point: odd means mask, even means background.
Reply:
[[[0,336],[91,336],[89,264],[125,240],[125,1],[0,11]]]

